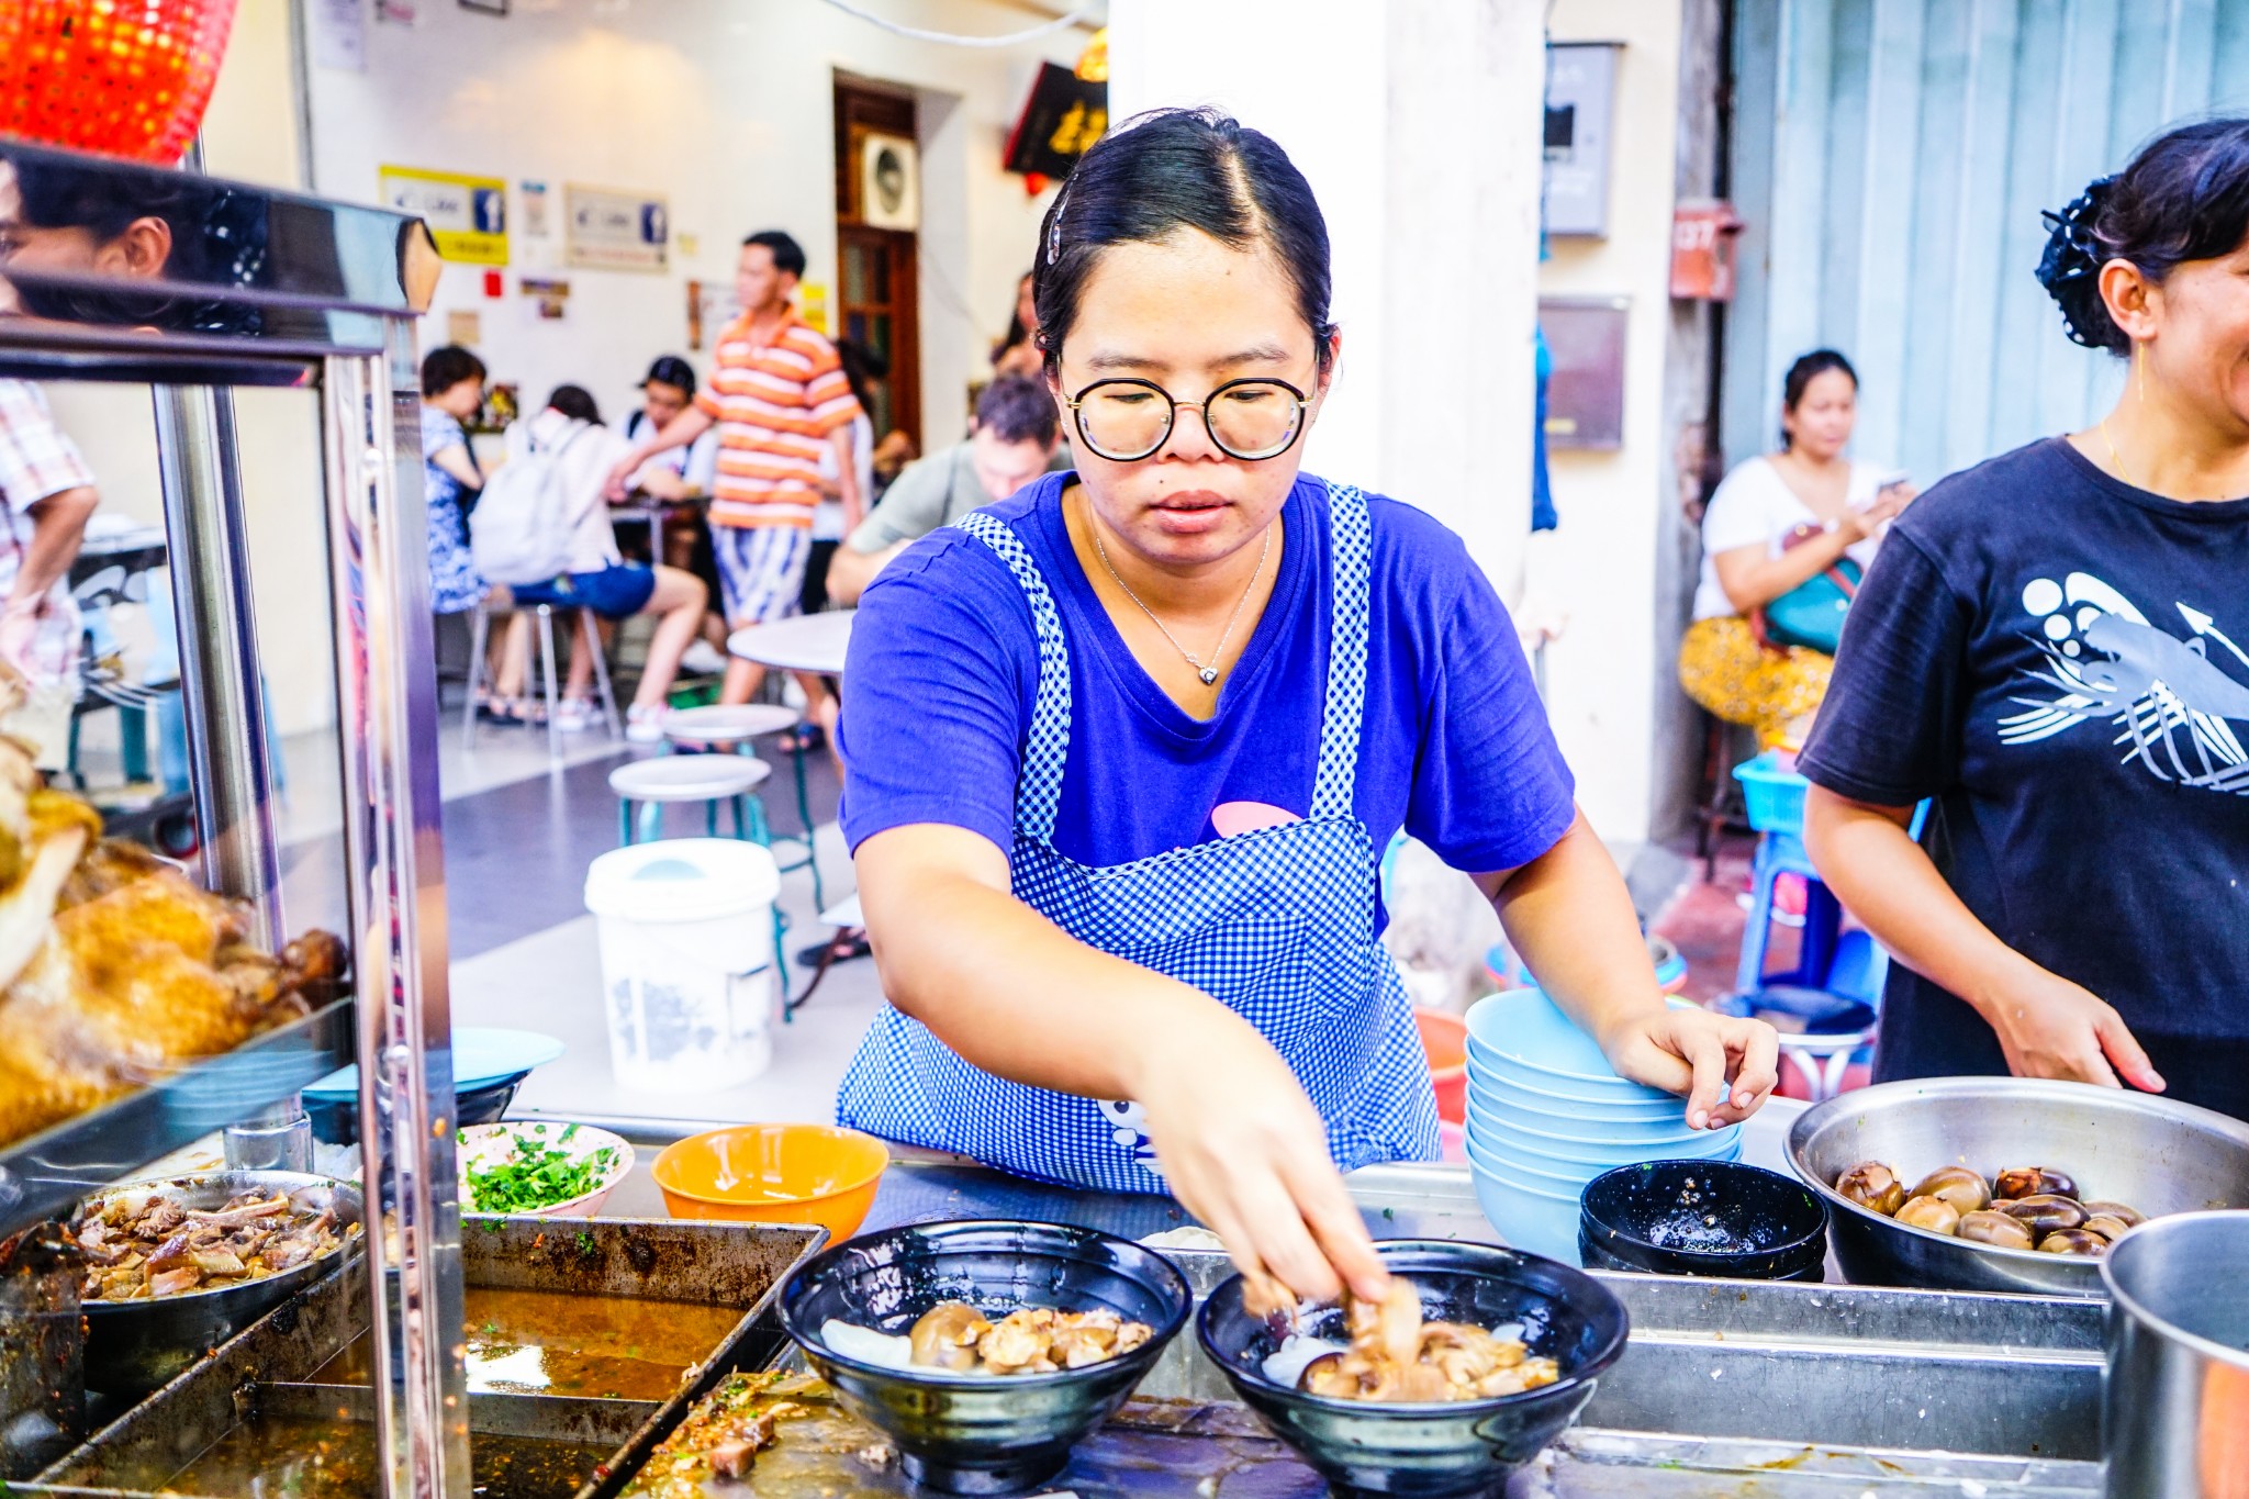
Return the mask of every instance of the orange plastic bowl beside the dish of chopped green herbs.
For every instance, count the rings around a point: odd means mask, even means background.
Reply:
[[[850,1238],[891,1164],[873,1135],[828,1124],[735,1124],[663,1146],[650,1175],[672,1218],[816,1223]]]

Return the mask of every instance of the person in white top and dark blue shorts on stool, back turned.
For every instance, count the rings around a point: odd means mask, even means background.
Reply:
[[[517,436],[517,431],[522,436]],[[511,458],[538,445],[556,454],[571,494],[569,571],[551,582],[517,584],[517,605],[553,605],[558,609],[591,609],[603,620],[625,620],[634,614],[657,614],[657,634],[648,643],[641,685],[625,715],[625,737],[648,744],[663,737],[663,710],[679,674],[679,654],[702,625],[708,593],[695,573],[677,566],[643,566],[625,562],[609,528],[609,506],[603,501],[609,470],[632,445],[600,425],[594,398],[576,387],[556,387],[547,409],[508,431]],[[508,649],[495,683],[502,701],[520,703],[531,656],[531,632],[522,614],[508,627]],[[556,726],[585,728],[591,710],[594,656],[571,652],[569,688],[558,706]],[[522,708],[517,706],[517,712]]]

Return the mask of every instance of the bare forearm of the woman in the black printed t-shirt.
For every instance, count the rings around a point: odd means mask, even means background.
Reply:
[[[1909,807],[1871,807],[1813,787],[1804,800],[1804,847],[1876,942],[1988,1016],[1993,998],[2033,964],[1952,892],[1905,832],[1909,820]]]

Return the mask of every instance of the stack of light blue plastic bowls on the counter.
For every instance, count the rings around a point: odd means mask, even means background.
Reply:
[[[1541,991],[1514,989],[1469,1009],[1475,1200],[1518,1250],[1574,1265],[1579,1193],[1606,1171],[1738,1157],[1738,1124],[1689,1128],[1685,1099],[1617,1076],[1592,1036]]]

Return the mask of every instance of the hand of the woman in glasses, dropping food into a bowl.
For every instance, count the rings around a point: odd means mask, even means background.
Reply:
[[[1163,1178],[1219,1238],[1253,1301],[1379,1299],[1390,1272],[1327,1153],[1327,1126],[1295,1072],[1241,1016],[1210,1005],[1136,1070]],[[1282,1297],[1289,1299],[1289,1297]],[[1271,1310],[1271,1308],[1255,1308]]]

